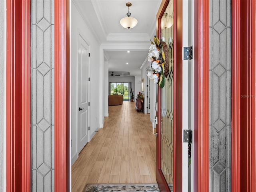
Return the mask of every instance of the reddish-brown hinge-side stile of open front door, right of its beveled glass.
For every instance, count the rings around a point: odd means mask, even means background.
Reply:
[[[182,1],[174,0],[174,191],[182,191]]]

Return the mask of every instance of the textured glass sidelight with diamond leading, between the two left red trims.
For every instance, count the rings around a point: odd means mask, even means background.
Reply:
[[[54,191],[53,0],[31,1],[31,190]]]

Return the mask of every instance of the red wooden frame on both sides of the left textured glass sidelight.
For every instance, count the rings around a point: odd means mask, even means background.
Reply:
[[[66,192],[70,189],[69,1],[54,3],[54,181],[56,192]],[[6,1],[6,21],[6,191],[30,192],[30,0]]]

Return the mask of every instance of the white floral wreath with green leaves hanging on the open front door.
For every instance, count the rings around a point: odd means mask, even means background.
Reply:
[[[156,45],[151,41],[149,48],[148,61],[151,62],[151,67],[148,68],[147,76],[154,80],[154,84],[163,88],[165,77],[169,72],[168,46],[156,36],[154,36],[154,42]]]

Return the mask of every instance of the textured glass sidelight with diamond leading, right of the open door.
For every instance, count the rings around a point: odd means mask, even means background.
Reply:
[[[209,190],[230,191],[231,1],[210,1]]]

